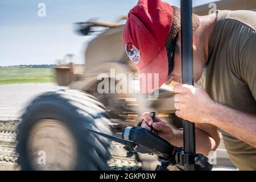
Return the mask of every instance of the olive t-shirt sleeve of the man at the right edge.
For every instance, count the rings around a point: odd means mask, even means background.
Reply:
[[[249,86],[256,101],[256,32],[251,35],[242,49],[240,70],[243,81]]]

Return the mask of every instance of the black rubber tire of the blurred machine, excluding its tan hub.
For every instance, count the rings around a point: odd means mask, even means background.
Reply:
[[[16,151],[22,170],[36,169],[28,154],[28,139],[33,126],[43,119],[60,121],[76,142],[75,164],[67,170],[108,170],[110,159],[106,138],[89,133],[85,127],[112,134],[104,105],[88,93],[69,88],[52,90],[35,98],[26,108],[17,127]],[[53,121],[54,121],[53,120]],[[40,151],[40,148],[38,149]],[[63,159],[65,160],[65,159]],[[48,170],[48,169],[47,169]]]

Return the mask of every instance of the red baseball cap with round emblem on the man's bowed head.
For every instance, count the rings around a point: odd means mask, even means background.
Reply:
[[[140,75],[141,93],[164,84],[168,76],[166,39],[173,10],[160,0],[141,0],[130,10],[123,30],[123,48]]]

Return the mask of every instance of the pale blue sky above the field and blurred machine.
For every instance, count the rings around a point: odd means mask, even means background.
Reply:
[[[179,0],[166,0],[179,7]],[[213,0],[193,0],[203,5]],[[38,4],[46,4],[46,17]],[[137,0],[0,0],[0,65],[55,64],[65,54],[84,63],[86,43],[93,36],[77,36],[73,23],[90,18],[113,21],[125,15]]]

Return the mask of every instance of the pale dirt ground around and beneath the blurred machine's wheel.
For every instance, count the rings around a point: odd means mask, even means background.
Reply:
[[[56,84],[10,84],[0,85],[0,170],[19,170],[16,166],[15,125],[25,106],[42,92],[55,88]],[[142,162],[135,158],[126,158],[126,151],[121,144],[112,142],[110,147],[112,158],[108,164],[113,170],[154,170],[159,162],[156,156],[139,155]],[[227,158],[223,144],[217,150],[220,156],[214,170],[235,169]],[[224,165],[225,164],[225,165]],[[225,167],[221,167],[225,166]],[[173,168],[172,168],[173,169]]]

